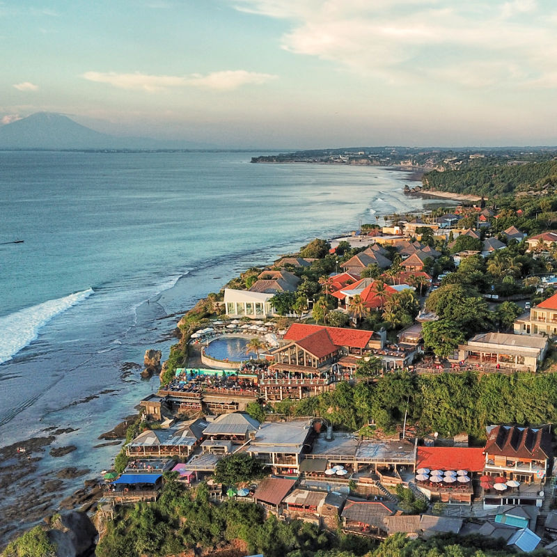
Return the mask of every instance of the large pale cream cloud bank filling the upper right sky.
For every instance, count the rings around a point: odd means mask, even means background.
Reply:
[[[228,3],[244,13],[282,19],[285,51],[315,56],[363,78],[410,84],[437,74],[463,87],[483,77],[505,88],[554,83],[549,73],[557,58],[557,7],[542,12],[536,0]]]

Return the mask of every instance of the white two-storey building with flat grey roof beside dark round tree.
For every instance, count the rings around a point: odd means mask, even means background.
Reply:
[[[262,423],[246,451],[277,475],[299,474],[301,455],[311,450],[311,421]]]

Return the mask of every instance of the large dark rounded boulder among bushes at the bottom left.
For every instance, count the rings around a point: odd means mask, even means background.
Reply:
[[[72,510],[55,517],[48,537],[56,544],[56,557],[78,557],[94,547],[97,529],[84,512]]]

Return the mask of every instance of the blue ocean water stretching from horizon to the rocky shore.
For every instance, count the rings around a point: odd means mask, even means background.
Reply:
[[[0,446],[74,429],[52,446],[76,450],[36,464],[91,471],[58,498],[110,466],[118,448],[93,446],[157,390],[130,363],[166,358],[176,314],[314,237],[427,203],[402,194],[405,172],[259,154],[0,152]]]

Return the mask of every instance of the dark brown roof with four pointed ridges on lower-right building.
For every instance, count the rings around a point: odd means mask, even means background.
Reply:
[[[496,425],[485,443],[489,455],[545,460],[551,455],[551,427]]]

